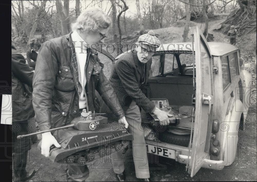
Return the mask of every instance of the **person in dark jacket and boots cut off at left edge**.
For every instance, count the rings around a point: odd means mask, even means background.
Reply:
[[[28,150],[31,149],[30,137],[17,139],[18,135],[29,133],[28,125],[34,120],[32,97],[24,87],[24,84],[32,87],[33,75],[24,57],[12,45],[12,142],[15,158],[13,181],[25,181],[35,173],[34,170],[26,170]]]

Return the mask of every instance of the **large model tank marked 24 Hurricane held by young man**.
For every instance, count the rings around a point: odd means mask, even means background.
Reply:
[[[133,139],[132,134],[118,122],[109,122],[106,117],[91,112],[82,112],[81,116],[71,121],[70,125],[50,130],[20,135],[24,137],[48,131],[54,131],[61,148],[52,146],[52,162],[71,165],[86,165],[94,160],[106,157],[127,148]],[[38,145],[41,146],[41,142]]]

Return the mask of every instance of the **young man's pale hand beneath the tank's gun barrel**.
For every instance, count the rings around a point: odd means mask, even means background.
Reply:
[[[42,133],[41,154],[45,157],[49,157],[49,151],[52,145],[55,145],[57,148],[61,147],[50,131]]]

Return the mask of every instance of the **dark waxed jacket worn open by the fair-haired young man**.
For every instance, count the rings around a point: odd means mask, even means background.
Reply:
[[[78,102],[82,87],[71,33],[44,42],[39,50],[33,78],[33,107],[41,131],[65,126],[80,116]],[[107,95],[111,86],[103,73],[103,67],[97,52],[87,49],[87,111],[96,110],[97,90],[103,101],[108,103],[109,109],[123,117],[125,114],[117,106],[116,94]]]

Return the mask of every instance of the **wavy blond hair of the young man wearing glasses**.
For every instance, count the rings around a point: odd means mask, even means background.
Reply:
[[[72,31],[97,32],[99,29],[106,29],[111,26],[112,20],[100,8],[85,9],[72,24]]]

